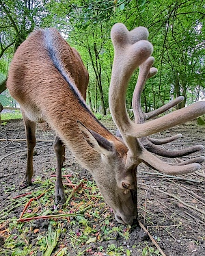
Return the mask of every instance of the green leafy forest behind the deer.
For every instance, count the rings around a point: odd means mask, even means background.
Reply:
[[[5,90],[5,79],[14,52],[39,27],[56,27],[75,47],[90,74],[87,104],[106,114],[113,64],[110,31],[115,23],[131,30],[148,28],[159,72],[143,89],[145,112],[180,95],[178,108],[205,97],[204,0],[0,0],[0,103],[15,105]],[[119,74],[120,75],[120,74]],[[128,88],[131,108],[137,71]]]

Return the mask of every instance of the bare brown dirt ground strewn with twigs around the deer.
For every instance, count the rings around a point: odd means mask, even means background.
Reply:
[[[115,126],[111,121],[104,122],[105,126],[111,131],[115,131]],[[189,122],[185,125],[180,125],[157,134],[154,138],[163,138],[172,136],[176,133],[182,133],[183,137],[180,140],[167,144],[165,147],[170,150],[182,149],[194,144],[204,144],[205,146],[205,127],[198,126],[196,120]],[[52,140],[55,138],[53,131],[45,129],[44,126],[38,125],[36,132],[38,139]],[[16,121],[1,125],[0,127],[1,139],[23,139],[25,138],[25,129],[23,121]],[[204,151],[200,151],[192,154],[204,155]],[[187,159],[188,157],[182,157]],[[27,151],[25,142],[0,142],[0,212],[8,207],[11,203],[11,199],[18,194],[23,194],[32,190],[32,186],[29,188],[20,188],[20,182],[24,177],[25,166],[27,161]],[[164,159],[166,162],[177,162],[178,159]],[[38,142],[36,145],[36,153],[33,159],[35,177],[41,177],[41,179],[48,179],[51,177],[51,173],[55,172],[55,153],[53,151],[52,142]],[[75,159],[70,154],[69,150],[66,150],[66,163],[65,168],[70,172],[77,172],[79,179],[88,179],[92,181],[92,177],[89,172],[83,170]],[[160,175],[159,172],[152,170],[148,166],[141,164],[137,169],[137,182],[138,182],[138,207],[139,207],[139,220],[148,229],[152,238],[159,244],[165,255],[205,255],[205,165],[202,164],[202,169],[193,174],[181,175],[177,177],[168,177]],[[102,200],[103,202],[103,200]],[[107,212],[110,211],[106,206]],[[13,217],[19,218],[20,213],[23,210],[23,205],[12,209],[8,216],[3,218],[1,216],[0,231],[5,229],[8,225],[8,220]],[[103,213],[105,214],[105,212]],[[96,222],[92,220],[90,216],[90,222],[95,225],[96,233],[100,235],[100,238],[95,242],[90,243],[89,250],[84,250],[88,246],[85,244],[79,244],[81,252],[77,246],[72,246],[72,243],[68,238],[67,240],[67,254],[66,255],[156,255],[150,248],[156,247],[140,227],[136,225],[128,230],[128,237],[125,239],[118,233],[115,235],[112,233],[109,239],[102,233],[102,222]],[[34,221],[32,225],[35,225],[36,229],[41,231],[48,229],[48,222],[50,220],[38,220]],[[5,225],[3,225],[5,222]],[[115,220],[111,214],[109,225],[112,227],[122,227]],[[2,226],[3,225],[3,226]],[[25,224],[27,227],[31,227],[31,224]],[[61,235],[59,243],[66,239],[66,234],[70,229],[77,229],[77,224],[73,225],[64,224],[66,227],[66,233]],[[126,229],[126,227],[122,227]],[[29,243],[35,246],[36,235],[29,233]],[[116,229],[117,230],[117,229]],[[2,232],[3,233],[3,232]],[[1,250],[0,255],[12,255],[3,252],[3,246],[5,243],[5,233],[0,237]],[[114,244],[115,249],[113,254],[107,253],[109,244]],[[86,247],[87,246],[87,247]],[[101,248],[101,254],[99,252]],[[122,249],[120,252],[120,248]],[[145,249],[146,248],[146,249]],[[84,251],[83,251],[84,250]],[[111,250],[110,250],[111,251]],[[31,255],[31,254],[30,254]],[[37,255],[42,255],[38,253]],[[56,255],[55,253],[52,255]],[[159,254],[160,255],[160,254]]]

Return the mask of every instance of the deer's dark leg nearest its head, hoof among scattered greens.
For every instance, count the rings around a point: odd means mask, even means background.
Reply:
[[[61,177],[61,168],[65,161],[66,147],[64,146],[63,142],[58,136],[55,137],[54,149],[55,149],[55,154],[57,159],[56,181],[55,181],[55,203],[63,204],[65,203],[66,198],[64,194],[64,186],[63,186],[62,177]]]

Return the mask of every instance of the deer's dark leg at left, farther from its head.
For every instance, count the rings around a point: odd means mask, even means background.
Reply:
[[[27,139],[27,170],[23,179],[23,185],[31,185],[31,178],[33,177],[33,150],[36,146],[36,123],[31,122],[31,120],[25,116],[23,111],[22,114]]]

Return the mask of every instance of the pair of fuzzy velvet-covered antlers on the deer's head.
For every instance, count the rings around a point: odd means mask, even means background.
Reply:
[[[158,116],[183,100],[183,97],[178,97],[171,103],[167,103],[158,110],[154,110],[148,114],[141,110],[140,97],[143,86],[146,80],[157,72],[156,68],[152,68],[152,64],[154,63],[154,58],[150,57],[152,54],[152,44],[147,41],[147,38],[148,30],[144,27],[137,27],[132,31],[128,31],[123,24],[117,23],[111,30],[115,57],[109,89],[109,105],[113,120],[120,130],[124,142],[128,146],[128,158],[132,159],[135,163],[145,162],[148,166],[169,174],[194,172],[200,168],[200,164],[197,163],[204,161],[204,157],[188,160],[184,164],[180,163],[173,168],[172,164],[165,164],[158,157],[148,152],[148,150],[159,155],[176,157],[203,149],[203,146],[192,146],[188,149],[172,151],[170,153],[169,151],[162,151],[156,145],[176,140],[180,135],[163,140],[163,142],[147,138],[139,140],[141,137],[163,131],[205,113],[205,102],[198,102],[182,110],[176,110],[166,116],[161,116],[160,118],[144,123],[146,120]],[[133,111],[135,115],[135,123],[133,123],[126,111],[125,97],[128,81],[137,67],[139,67],[139,78],[133,94]]]

